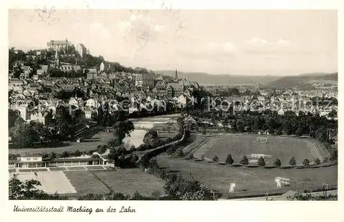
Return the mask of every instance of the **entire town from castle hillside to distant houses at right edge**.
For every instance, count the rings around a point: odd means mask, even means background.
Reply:
[[[67,63],[68,59],[75,60],[75,63]],[[110,111],[123,109],[120,105],[123,98],[127,98],[129,113],[166,103],[182,109],[188,103],[193,104],[195,91],[200,90],[213,96],[209,100],[211,105],[235,103],[235,111],[270,109],[283,115],[291,110],[297,115],[302,111],[329,118],[330,113],[337,111],[338,93],[334,87],[312,91],[259,89],[255,86],[235,89],[202,87],[197,82],[178,78],[177,70],[175,76],[163,76],[139,67],[118,71],[118,63],[94,59],[85,45],[79,43],[74,47],[67,40],[49,41],[47,49],[30,52],[10,49],[9,108],[20,111],[21,118],[27,122],[34,120],[47,124],[56,115],[56,108],[62,101],[69,107],[80,109],[86,119],[96,115],[105,102],[110,104]],[[118,98],[122,100],[118,101]],[[316,98],[323,102],[316,102]],[[52,115],[48,115],[51,111]]]

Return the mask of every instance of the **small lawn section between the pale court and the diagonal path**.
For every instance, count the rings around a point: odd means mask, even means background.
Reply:
[[[106,194],[110,190],[90,171],[64,171],[65,175],[69,179],[70,183],[74,186],[77,195],[93,194]]]

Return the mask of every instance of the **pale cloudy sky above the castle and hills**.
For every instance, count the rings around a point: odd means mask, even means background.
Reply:
[[[83,43],[128,67],[209,74],[337,71],[335,10],[9,10],[9,47]]]

